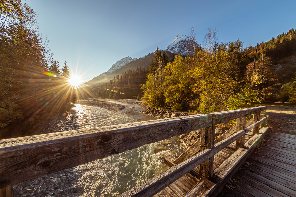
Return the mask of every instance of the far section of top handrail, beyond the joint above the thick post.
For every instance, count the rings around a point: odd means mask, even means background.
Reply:
[[[216,124],[220,124],[220,123],[225,123],[227,121],[231,121],[233,119],[251,115],[253,113],[259,113],[261,111],[261,108],[263,109],[265,107],[266,106],[261,106],[261,107],[255,107],[255,108],[222,111],[222,112],[215,112],[215,113],[209,113],[209,114],[215,115]]]

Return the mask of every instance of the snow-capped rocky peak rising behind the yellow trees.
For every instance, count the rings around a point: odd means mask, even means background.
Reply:
[[[196,47],[200,47],[197,43]],[[168,45],[166,51],[171,53],[180,54],[182,56],[186,56],[188,53],[193,51],[193,46],[191,46],[190,38],[186,35],[178,34],[173,42]]]

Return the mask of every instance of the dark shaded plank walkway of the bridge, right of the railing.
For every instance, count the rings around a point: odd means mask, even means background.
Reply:
[[[219,196],[296,196],[296,136],[269,132]]]

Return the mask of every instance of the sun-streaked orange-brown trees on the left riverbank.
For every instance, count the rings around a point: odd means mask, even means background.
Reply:
[[[36,12],[19,0],[0,6],[0,138],[39,129],[75,102],[67,79],[38,32]],[[55,65],[54,65],[55,64]],[[54,72],[55,71],[55,72]]]

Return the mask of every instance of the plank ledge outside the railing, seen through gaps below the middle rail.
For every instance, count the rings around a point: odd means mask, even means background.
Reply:
[[[252,137],[252,132],[249,132],[245,135],[245,142],[248,141]],[[216,169],[219,165],[221,165],[222,162],[224,162],[228,157],[231,156],[231,154],[234,153],[235,150],[235,142],[224,148],[219,153],[215,154],[214,156],[214,169]],[[172,158],[171,160],[174,161],[175,158],[173,157],[166,157],[166,159]],[[196,170],[199,169],[199,167],[195,168]],[[197,171],[198,173],[198,171]],[[197,178],[190,174],[186,174],[162,191],[160,191],[158,194],[156,194],[154,197],[183,197],[186,193],[188,193],[196,184],[197,184]]]

